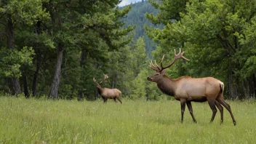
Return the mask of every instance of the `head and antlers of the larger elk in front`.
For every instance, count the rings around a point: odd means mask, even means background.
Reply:
[[[156,73],[154,73],[152,76],[148,76],[148,81],[153,81],[153,82],[156,82],[156,83],[158,81],[161,81],[163,79],[163,77],[165,76],[165,73],[167,72],[166,68],[169,68],[170,66],[172,66],[173,63],[175,63],[175,61],[177,59],[182,58],[183,60],[188,60],[187,58],[183,57],[183,54],[184,54],[184,52],[179,52],[178,54],[176,54],[176,50],[175,50],[175,58],[174,58],[174,60],[172,60],[172,63],[170,63],[169,65],[164,66],[164,67],[162,65],[163,60],[164,60],[164,55],[161,58],[160,66],[156,63],[156,60],[155,60],[155,65],[152,63],[152,60],[151,60],[151,63],[149,63],[149,66],[154,71],[156,71]]]

